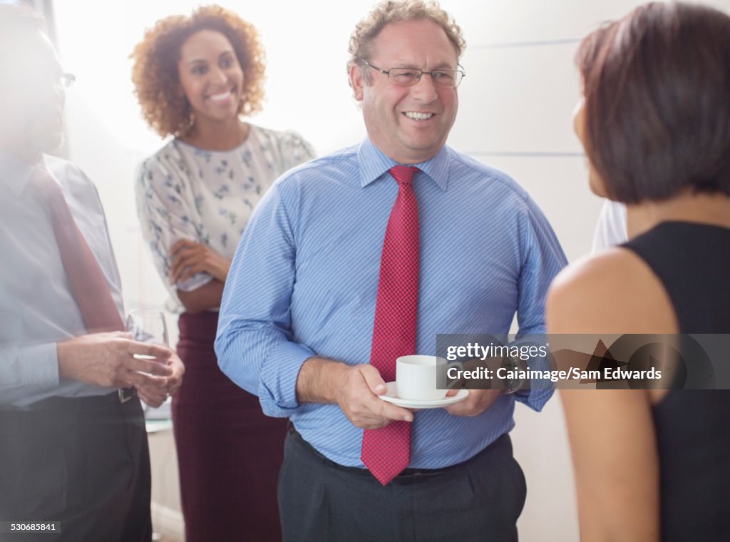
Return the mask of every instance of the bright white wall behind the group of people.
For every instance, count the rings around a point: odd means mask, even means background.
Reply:
[[[225,1],[261,31],[268,52],[268,102],[253,121],[293,128],[319,153],[364,135],[345,77],[347,39],[371,0]],[[730,11],[730,0],[708,2]],[[69,91],[69,151],[99,186],[128,308],[161,305],[164,290],[139,240],[132,183],[160,140],[139,117],[128,54],[145,26],[190,0],[58,0],[58,38],[77,85]],[[537,200],[569,259],[588,252],[600,202],[588,191],[572,134],[581,37],[634,0],[443,0],[464,29],[467,77],[450,145],[504,169]],[[173,326],[174,327],[174,326]],[[526,541],[577,541],[572,474],[561,408],[518,408],[515,453],[526,471],[520,518]]]

